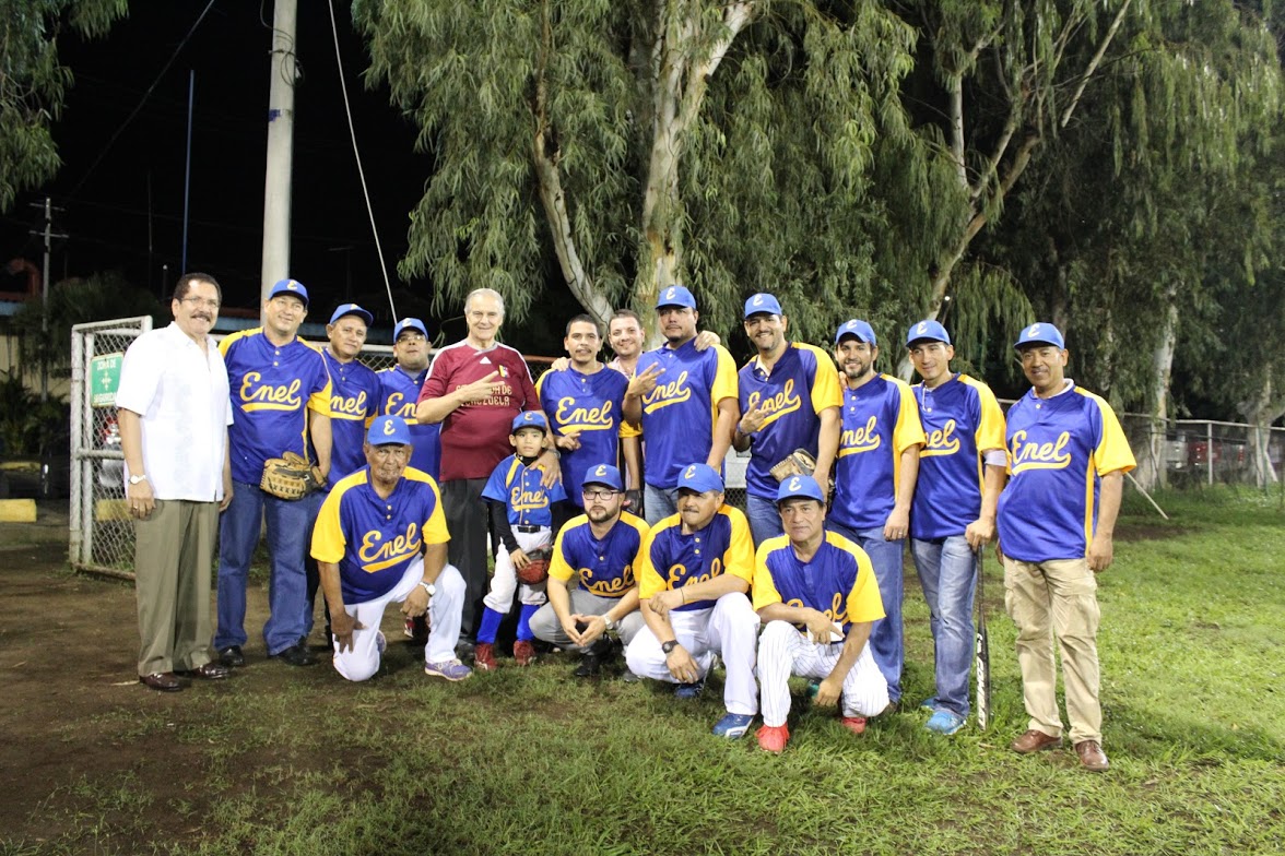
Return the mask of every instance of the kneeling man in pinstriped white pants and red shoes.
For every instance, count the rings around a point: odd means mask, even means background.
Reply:
[[[785,535],[765,540],[754,557],[754,608],[766,625],[758,640],[758,744],[768,752],[790,739],[790,675],[821,679],[816,705],[842,697],[839,721],[855,734],[888,706],[888,681],[866,644],[884,617],[879,583],[865,551],[825,531],[822,497],[811,476],[783,481],[776,508]]]

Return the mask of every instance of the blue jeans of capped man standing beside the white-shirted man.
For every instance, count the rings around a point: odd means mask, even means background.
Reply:
[[[245,584],[249,563],[258,547],[260,521],[267,516],[270,575],[267,603],[271,615],[263,625],[269,656],[299,643],[305,635],[307,580],[303,553],[319,509],[321,494],[303,499],[278,499],[258,485],[235,484],[233,502],[218,524],[218,629],[215,648],[245,644]]]

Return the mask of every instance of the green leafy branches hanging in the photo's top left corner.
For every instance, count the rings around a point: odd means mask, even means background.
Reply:
[[[54,177],[62,160],[51,124],[72,72],[58,36],[96,37],[123,17],[127,0],[0,0],[0,210]]]

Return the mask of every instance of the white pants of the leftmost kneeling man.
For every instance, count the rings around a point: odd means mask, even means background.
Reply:
[[[334,669],[348,680],[368,680],[379,671],[379,625],[384,620],[384,608],[389,603],[401,603],[419,581],[424,579],[424,560],[416,558],[406,569],[397,585],[374,601],[365,603],[344,603],[344,612],[365,625],[365,630],[353,630],[352,648],[339,651],[339,642],[330,637],[334,648]],[[464,578],[447,565],[437,575],[433,584],[437,594],[428,602],[428,644],[424,646],[424,662],[442,662],[455,658],[455,642],[460,635],[460,620],[464,612]]]

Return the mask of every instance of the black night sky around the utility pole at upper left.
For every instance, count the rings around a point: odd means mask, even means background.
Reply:
[[[263,21],[271,23],[271,0],[262,8],[218,0],[107,149],[206,1],[135,0],[130,17],[105,39],[62,37],[60,56],[76,77],[54,130],[63,168],[46,187],[23,194],[0,219],[0,261],[24,255],[41,263],[41,241],[27,231],[40,226],[30,205],[48,193],[63,208],[55,231],[68,235],[55,244],[50,266],[55,281],[120,270],[140,287],[168,290],[182,253],[188,86],[189,72],[195,72],[188,268],[217,276],[227,305],[257,307],[271,47]],[[389,104],[387,90],[370,91],[361,82],[368,63],[348,9],[347,3],[335,4],[344,74],[398,314],[427,317],[428,284],[398,285],[396,264],[406,248],[407,212],[421,195],[430,158],[414,153],[416,131]],[[388,302],[321,0],[299,3],[296,53],[303,78],[296,90],[290,273],[320,307],[351,296],[387,321]],[[21,285],[0,285],[5,287]],[[325,321],[320,314],[315,305],[310,321]]]

